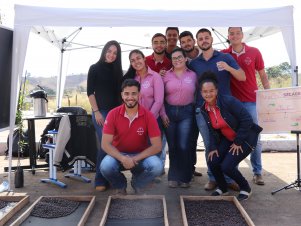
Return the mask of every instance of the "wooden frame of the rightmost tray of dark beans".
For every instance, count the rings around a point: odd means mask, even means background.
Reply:
[[[255,226],[245,209],[242,207],[242,205],[239,203],[237,198],[235,196],[180,196],[181,201],[181,212],[182,212],[182,219],[183,219],[183,225],[188,226],[186,211],[185,211],[185,200],[191,200],[191,201],[208,201],[208,200],[224,200],[232,202],[239,212],[241,213],[242,217],[245,219],[246,223],[249,226]],[[200,210],[201,211],[201,210]]]

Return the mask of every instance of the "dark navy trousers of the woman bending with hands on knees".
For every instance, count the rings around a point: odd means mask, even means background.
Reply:
[[[250,154],[252,149],[246,143],[242,143],[243,152],[240,152],[239,155],[233,155],[232,152],[229,152],[232,144],[232,141],[222,137],[217,148],[219,157],[214,155],[212,161],[208,160],[208,166],[216,179],[218,187],[223,192],[227,191],[227,182],[224,175],[232,178],[239,185],[240,190],[250,191],[251,188],[248,181],[240,173],[237,166]]]

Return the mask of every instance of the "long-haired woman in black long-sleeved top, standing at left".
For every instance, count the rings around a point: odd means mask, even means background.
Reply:
[[[90,66],[87,81],[87,95],[92,108],[92,120],[99,141],[108,112],[120,105],[120,82],[122,79],[121,48],[117,41],[109,41],[103,47],[100,59]],[[99,145],[101,146],[101,145]],[[95,189],[106,190],[108,182],[100,173],[100,163],[105,156],[101,149],[97,154]]]

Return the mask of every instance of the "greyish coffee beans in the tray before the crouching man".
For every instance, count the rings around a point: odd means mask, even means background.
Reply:
[[[159,199],[112,199],[108,218],[144,219],[163,217],[163,203]]]

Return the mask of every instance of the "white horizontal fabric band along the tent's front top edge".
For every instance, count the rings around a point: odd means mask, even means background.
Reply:
[[[15,6],[15,26],[293,26],[293,7],[239,10],[79,9]]]

